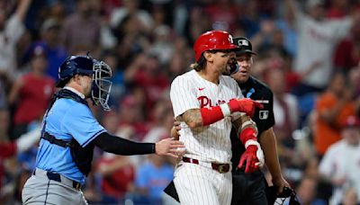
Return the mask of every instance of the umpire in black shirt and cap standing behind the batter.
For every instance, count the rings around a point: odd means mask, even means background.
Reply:
[[[272,175],[272,181],[277,192],[283,192],[284,187],[290,187],[289,183],[284,180],[277,156],[275,133],[273,126],[275,125],[273,112],[273,92],[270,88],[251,76],[251,67],[253,65],[252,45],[245,37],[234,38],[233,42],[240,49],[236,51],[236,59],[238,61],[238,72],[231,75],[241,88],[241,93],[252,100],[257,100],[264,104],[264,109],[256,110],[252,117],[257,123],[257,140],[264,150],[266,166]],[[245,151],[238,140],[236,130],[231,130],[232,158],[231,162],[237,167],[238,160]],[[252,174],[246,174],[243,169],[232,170],[233,194],[231,204],[267,204],[266,201],[266,181],[264,174],[257,170]]]

